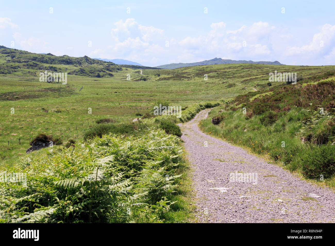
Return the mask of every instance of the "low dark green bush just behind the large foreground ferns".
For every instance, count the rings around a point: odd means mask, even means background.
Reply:
[[[129,135],[131,133],[134,133],[134,131],[136,131],[137,129],[138,127],[134,123],[122,125],[114,125],[111,123],[99,124],[88,129],[84,133],[84,140],[87,140],[88,138],[94,138],[95,136],[102,138],[103,135],[106,135],[108,133]]]

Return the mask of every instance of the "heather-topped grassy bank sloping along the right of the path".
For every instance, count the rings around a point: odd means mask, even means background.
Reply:
[[[334,81],[328,81],[239,96],[214,108],[201,128],[335,187],[334,88]],[[311,99],[300,100],[302,96]]]

